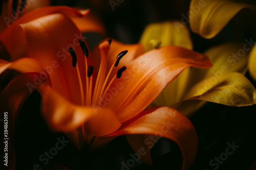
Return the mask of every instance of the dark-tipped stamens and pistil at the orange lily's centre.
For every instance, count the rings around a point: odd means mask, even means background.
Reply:
[[[104,96],[106,94],[106,92],[109,90],[111,84],[113,83],[113,81],[117,78],[119,79],[122,76],[122,72],[126,69],[125,66],[121,67],[116,75],[111,79],[111,81],[108,80],[110,78],[111,72],[115,67],[118,66],[119,61],[121,60],[121,58],[128,52],[127,50],[120,52],[117,57],[116,60],[114,61],[114,63],[112,64],[108,75],[106,75],[106,64],[107,64],[107,57],[109,54],[109,48],[111,45],[112,39],[109,39],[108,41],[104,41],[99,45],[100,48],[100,52],[101,52],[101,62],[100,62],[100,66],[99,66],[99,70],[98,70],[98,74],[97,74],[97,78],[96,80],[93,79],[93,70],[94,67],[93,66],[88,66],[88,61],[87,58],[89,57],[89,51],[87,48],[86,43],[84,43],[83,40],[79,39],[79,44],[80,47],[82,48],[82,52],[84,55],[84,59],[85,59],[85,65],[86,65],[86,71],[87,71],[87,77],[86,77],[86,96],[84,96],[84,91],[83,91],[83,84],[82,82],[84,80],[81,79],[81,75],[80,75],[80,71],[77,65],[77,58],[76,58],[76,54],[74,52],[74,50],[70,47],[69,48],[69,52],[72,56],[72,66],[76,67],[77,70],[77,75],[78,75],[78,80],[79,80],[79,86],[80,86],[80,93],[81,93],[81,105],[98,105],[100,106],[102,100],[104,99]],[[94,81],[94,90],[92,90],[92,85],[93,85],[93,81]],[[108,83],[108,84],[107,84]]]

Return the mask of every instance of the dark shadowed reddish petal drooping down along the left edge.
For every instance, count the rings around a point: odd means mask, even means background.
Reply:
[[[22,106],[35,88],[30,89],[28,83],[33,84],[34,76],[39,76],[37,72],[27,72],[26,74],[15,77],[2,91],[0,95],[0,108],[8,112],[9,124],[9,167],[15,169],[16,154],[14,150],[15,125]]]

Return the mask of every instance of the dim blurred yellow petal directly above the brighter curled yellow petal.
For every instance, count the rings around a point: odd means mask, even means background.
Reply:
[[[227,72],[240,72],[245,74],[250,46],[245,43],[227,42],[209,48],[205,55],[210,58],[212,67],[207,69],[191,68],[189,75],[189,87],[201,80],[216,76],[221,77]]]

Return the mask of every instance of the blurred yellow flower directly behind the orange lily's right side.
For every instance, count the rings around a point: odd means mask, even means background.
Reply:
[[[188,28],[181,21],[152,23],[146,27],[140,42],[149,50],[151,39],[160,39],[161,46],[193,48]],[[249,55],[244,46],[243,43],[226,42],[209,48],[204,54],[214,66],[187,68],[159,94],[152,106],[168,106],[189,116],[205,101],[236,107],[255,104],[256,90],[240,74],[246,71]]]

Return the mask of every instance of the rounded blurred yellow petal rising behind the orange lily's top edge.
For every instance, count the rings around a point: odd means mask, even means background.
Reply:
[[[160,46],[177,45],[190,50],[193,48],[188,28],[180,21],[165,21],[148,25],[140,38],[140,43],[143,44],[146,52],[154,48],[150,44],[152,39],[160,40]]]

